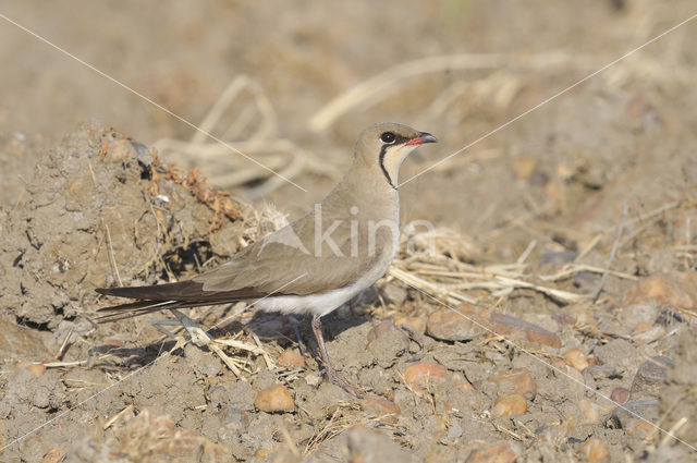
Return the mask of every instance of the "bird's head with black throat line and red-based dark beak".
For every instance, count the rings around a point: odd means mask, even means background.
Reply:
[[[380,169],[386,181],[392,187],[396,187],[400,167],[409,153],[419,145],[437,142],[433,135],[407,125],[380,123],[360,133],[356,144],[356,157],[359,161]]]

